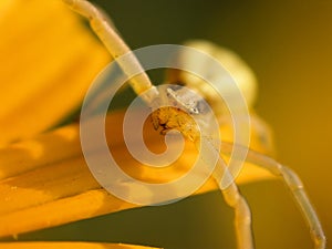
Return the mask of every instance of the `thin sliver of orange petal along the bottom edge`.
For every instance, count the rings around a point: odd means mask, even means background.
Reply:
[[[156,249],[152,247],[133,246],[124,243],[97,242],[4,242],[2,249]]]

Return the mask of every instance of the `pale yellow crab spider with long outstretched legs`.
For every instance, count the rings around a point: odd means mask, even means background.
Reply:
[[[118,56],[131,52],[129,48],[116,32],[116,29],[114,28],[112,21],[106,18],[106,15],[102,13],[102,11],[98,10],[95,6],[86,0],[63,1],[72,10],[89,19],[92,29],[104,43],[114,59],[117,59]],[[200,49],[206,50],[207,53],[214,54],[217,59],[218,56],[230,56],[231,59],[238,60],[236,55],[231,55],[229,54],[229,52],[224,51],[222,49],[211,45],[207,42],[196,42],[191,45],[199,46]],[[131,60],[120,61],[118,64],[124,73],[127,74],[129,74],[133,69],[142,69],[142,65],[134,55],[131,56]],[[241,62],[237,63],[236,65],[239,65],[239,70],[241,70],[242,72],[249,72]],[[152,84],[144,70],[141,71],[143,73],[134,76],[129,82],[129,85],[132,86],[134,92],[137,95],[141,95],[144,92],[148,91],[149,94],[145,95],[144,101],[153,108],[155,106],[158,106],[159,103],[164,103],[166,105],[172,104],[172,106],[155,108],[152,115],[153,126],[156,129],[159,128],[162,134],[165,134],[169,129],[177,129],[193,143],[203,143],[203,147],[206,151],[212,152],[214,154],[218,153],[214,144],[209,141],[209,134],[200,134],[197,128],[197,124],[193,121],[193,118],[190,118],[190,115],[197,115],[198,120],[201,121],[206,126],[209,125],[206,118],[209,112],[207,112],[201,104],[203,98],[193,95],[193,92],[188,92],[183,87],[176,86],[168,86],[164,92],[160,92],[155,85]],[[186,73],[176,73],[174,77],[179,81],[180,84],[191,86],[194,90],[201,92],[204,98],[209,101],[211,105],[217,106],[217,110],[222,108],[221,106],[218,106],[215,94],[209,89],[205,89],[205,86],[203,86],[201,83],[197,81],[197,79]],[[243,84],[240,84],[239,87],[243,92],[248,104],[250,104],[255,95],[255,82],[252,83],[252,77],[250,75],[247,75],[246,79],[247,80],[242,81]],[[234,145],[231,144],[224,143],[221,146],[222,154],[231,154],[232,146]],[[248,151],[246,159],[269,170],[271,174],[280,177],[286,183],[299,208],[301,209],[303,218],[309,225],[314,248],[324,249],[325,237],[320,220],[297,174],[293,173],[290,168],[280,165],[276,160],[250,149]],[[227,164],[218,153],[218,160],[216,169],[212,173],[212,177],[219,185],[226,203],[235,210],[235,226],[238,248],[253,249],[250,208],[246,199],[239,193],[238,187],[234,180],[227,186],[225,186],[222,181],[220,181],[220,178],[225,175],[229,176]],[[231,178],[232,176],[229,177]]]

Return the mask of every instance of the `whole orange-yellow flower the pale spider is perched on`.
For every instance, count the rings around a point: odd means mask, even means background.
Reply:
[[[0,2],[0,237],[59,226],[137,207],[103,189],[81,152],[79,126],[53,129],[77,110],[95,75],[111,61],[108,53],[61,1]],[[123,168],[151,183],[167,181],[188,170],[193,145],[172,168],[149,169],[135,163],[121,137],[123,112],[110,115],[106,133]],[[112,131],[110,129],[112,127]],[[148,128],[148,127],[147,127]],[[149,127],[151,128],[151,127]],[[231,137],[228,126],[220,127]],[[149,132],[151,133],[151,132]],[[256,138],[258,151],[266,146]],[[157,133],[147,138],[160,149]],[[268,178],[249,165],[238,183]],[[216,189],[208,180],[196,194]],[[106,243],[1,243],[2,248],[143,248]],[[144,247],[146,248],[146,247]]]

